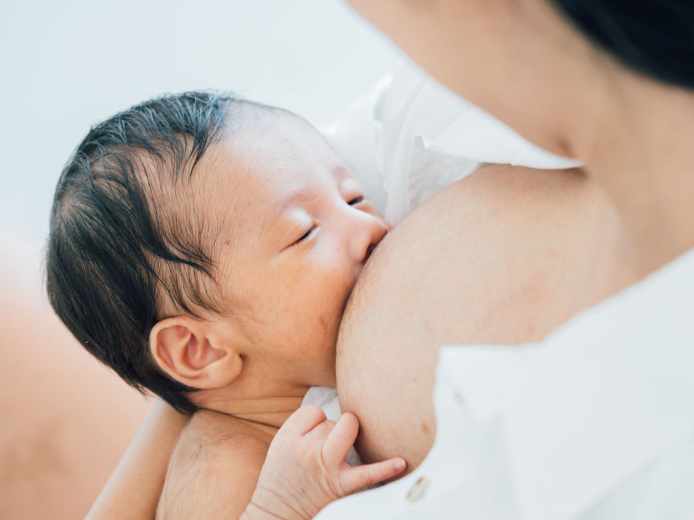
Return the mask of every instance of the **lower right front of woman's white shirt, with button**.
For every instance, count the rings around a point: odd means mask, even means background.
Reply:
[[[318,518],[694,519],[693,313],[691,251],[541,343],[443,347],[428,458]]]

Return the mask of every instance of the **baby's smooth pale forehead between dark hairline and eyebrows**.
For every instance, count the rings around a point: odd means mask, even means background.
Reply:
[[[212,226],[242,232],[271,222],[293,193],[319,197],[351,173],[309,123],[280,111],[223,132],[194,177],[197,211]]]

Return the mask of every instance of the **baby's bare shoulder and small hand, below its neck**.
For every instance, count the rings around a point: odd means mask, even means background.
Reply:
[[[289,416],[278,432],[258,435],[233,421],[207,416],[203,431],[217,439],[189,438],[201,431],[198,412],[169,465],[157,518],[310,519],[332,501],[398,476],[405,460],[352,467],[345,462],[359,431],[357,417],[337,422],[314,404]],[[223,433],[222,433],[223,432]],[[197,448],[196,451],[192,448]],[[262,465],[262,469],[261,469]],[[250,498],[248,498],[250,497]]]

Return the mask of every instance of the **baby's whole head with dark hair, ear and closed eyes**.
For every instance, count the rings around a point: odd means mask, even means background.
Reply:
[[[47,288],[96,358],[192,411],[218,388],[334,385],[344,304],[386,231],[303,119],[164,96],[92,128],[71,157]]]

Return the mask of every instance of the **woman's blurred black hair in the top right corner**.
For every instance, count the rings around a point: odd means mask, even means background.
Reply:
[[[551,0],[590,40],[632,69],[694,88],[691,0]]]

